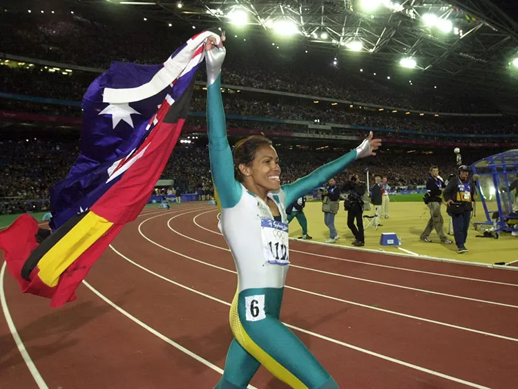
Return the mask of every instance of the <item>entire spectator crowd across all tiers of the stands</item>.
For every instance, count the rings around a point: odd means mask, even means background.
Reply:
[[[39,17],[39,19],[36,18]],[[111,61],[136,61],[160,63],[171,48],[184,39],[148,39],[149,23],[142,22],[140,34],[126,26],[92,21],[81,15],[12,15],[11,29],[4,29],[2,50],[13,55],[36,59],[60,61],[95,68],[107,68]],[[131,26],[133,30],[135,26]],[[155,26],[155,28],[157,28]],[[156,31],[154,32],[156,34]],[[110,37],[107,41],[106,37]],[[132,39],[128,39],[132,37]],[[230,52],[230,51],[229,51]],[[278,55],[278,53],[276,53]],[[145,61],[143,60],[145,59]],[[21,64],[12,67],[3,61],[0,66],[0,92],[33,97],[70,100],[70,104],[26,102],[0,97],[0,111],[37,113],[39,115],[81,117],[80,102],[86,88],[98,73],[83,71],[49,72],[47,66]],[[376,133],[384,138],[407,140],[459,141],[466,138],[452,134],[471,134],[483,142],[488,134],[508,134],[505,141],[518,141],[517,124],[513,117],[436,117],[433,115],[405,115],[404,111],[361,107],[356,102],[387,104],[405,109],[423,111],[495,112],[483,99],[457,98],[454,101],[440,97],[439,93],[420,93],[394,85],[374,82],[361,73],[343,72],[332,66],[315,70],[309,64],[298,63],[297,73],[289,63],[274,61],[271,55],[249,53],[247,56],[229,55],[225,62],[224,83],[235,86],[285,91],[319,97],[349,99],[347,104],[312,99],[293,99],[280,95],[244,92],[224,93],[224,108],[228,115],[265,117],[279,120],[299,120],[315,124],[348,124],[391,129]],[[340,72],[340,73],[338,73]],[[64,74],[66,73],[66,74]],[[200,72],[200,80],[204,79]],[[75,102],[76,104],[73,104]],[[193,95],[191,112],[202,112],[206,106],[205,93],[198,88]],[[187,125],[203,128],[203,116],[191,116]],[[276,132],[307,132],[307,124],[271,123],[258,120],[229,118],[231,129],[253,129]],[[407,134],[401,130],[418,133]],[[2,130],[3,131],[3,130]],[[12,129],[16,131],[16,129]],[[5,132],[5,131],[4,131]],[[334,134],[365,136],[365,129],[334,129]],[[432,134],[428,134],[432,133]],[[444,136],[444,134],[448,134]],[[79,137],[79,136],[78,136]],[[296,138],[291,138],[291,140]],[[182,193],[211,191],[207,141],[178,144],[166,165],[162,178],[173,179],[175,189]],[[330,144],[325,147],[300,146],[293,142],[275,141],[282,168],[282,182],[294,180],[310,173],[326,162],[347,153],[349,144]],[[321,146],[321,144],[320,144]],[[349,147],[349,148],[347,148]],[[28,139],[3,136],[0,140],[0,214],[26,211],[47,211],[50,187],[66,177],[79,153],[77,140],[66,141],[59,133],[52,139],[42,140],[37,132]],[[488,155],[488,150],[472,149],[465,162],[470,163]],[[377,158],[357,161],[343,172],[337,181],[352,173],[365,177],[367,171],[386,176],[392,188],[412,187],[425,182],[430,164],[439,164],[444,175],[454,171],[451,151],[424,153],[394,149],[382,150]]]

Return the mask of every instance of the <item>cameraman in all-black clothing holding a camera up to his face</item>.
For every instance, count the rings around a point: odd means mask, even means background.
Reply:
[[[354,235],[352,245],[361,247],[365,245],[365,235],[363,232],[363,195],[367,191],[365,182],[360,181],[358,174],[352,175],[351,178],[343,184],[343,192],[347,193],[347,199],[343,203],[343,207],[347,210],[347,227]],[[356,225],[354,225],[356,219]]]

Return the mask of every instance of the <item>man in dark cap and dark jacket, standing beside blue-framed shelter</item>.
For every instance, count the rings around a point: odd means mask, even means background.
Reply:
[[[452,178],[443,191],[443,197],[447,204],[446,211],[452,217],[453,236],[459,254],[468,252],[466,239],[470,227],[473,201],[477,192],[470,178],[470,168],[466,165],[459,167],[459,175]]]

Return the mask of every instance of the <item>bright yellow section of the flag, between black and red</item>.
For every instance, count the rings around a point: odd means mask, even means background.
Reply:
[[[113,222],[88,212],[77,225],[61,238],[38,262],[38,276],[46,285],[54,287],[59,277],[81,254],[101,238]]]

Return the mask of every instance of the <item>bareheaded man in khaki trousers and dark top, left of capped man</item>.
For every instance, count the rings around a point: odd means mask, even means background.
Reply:
[[[437,231],[437,235],[439,235],[441,243],[448,245],[453,243],[444,234],[444,219],[443,215],[441,214],[441,205],[443,204],[443,199],[441,196],[445,187],[446,185],[439,175],[439,167],[430,167],[430,177],[428,177],[428,180],[426,180],[426,194],[423,197],[425,204],[427,205],[428,209],[430,209],[430,219],[428,219],[428,224],[426,225],[424,231],[421,233],[420,238],[423,240],[423,242],[430,243],[432,241],[430,238],[428,238],[428,236],[430,236],[432,229],[435,229],[435,231]]]

